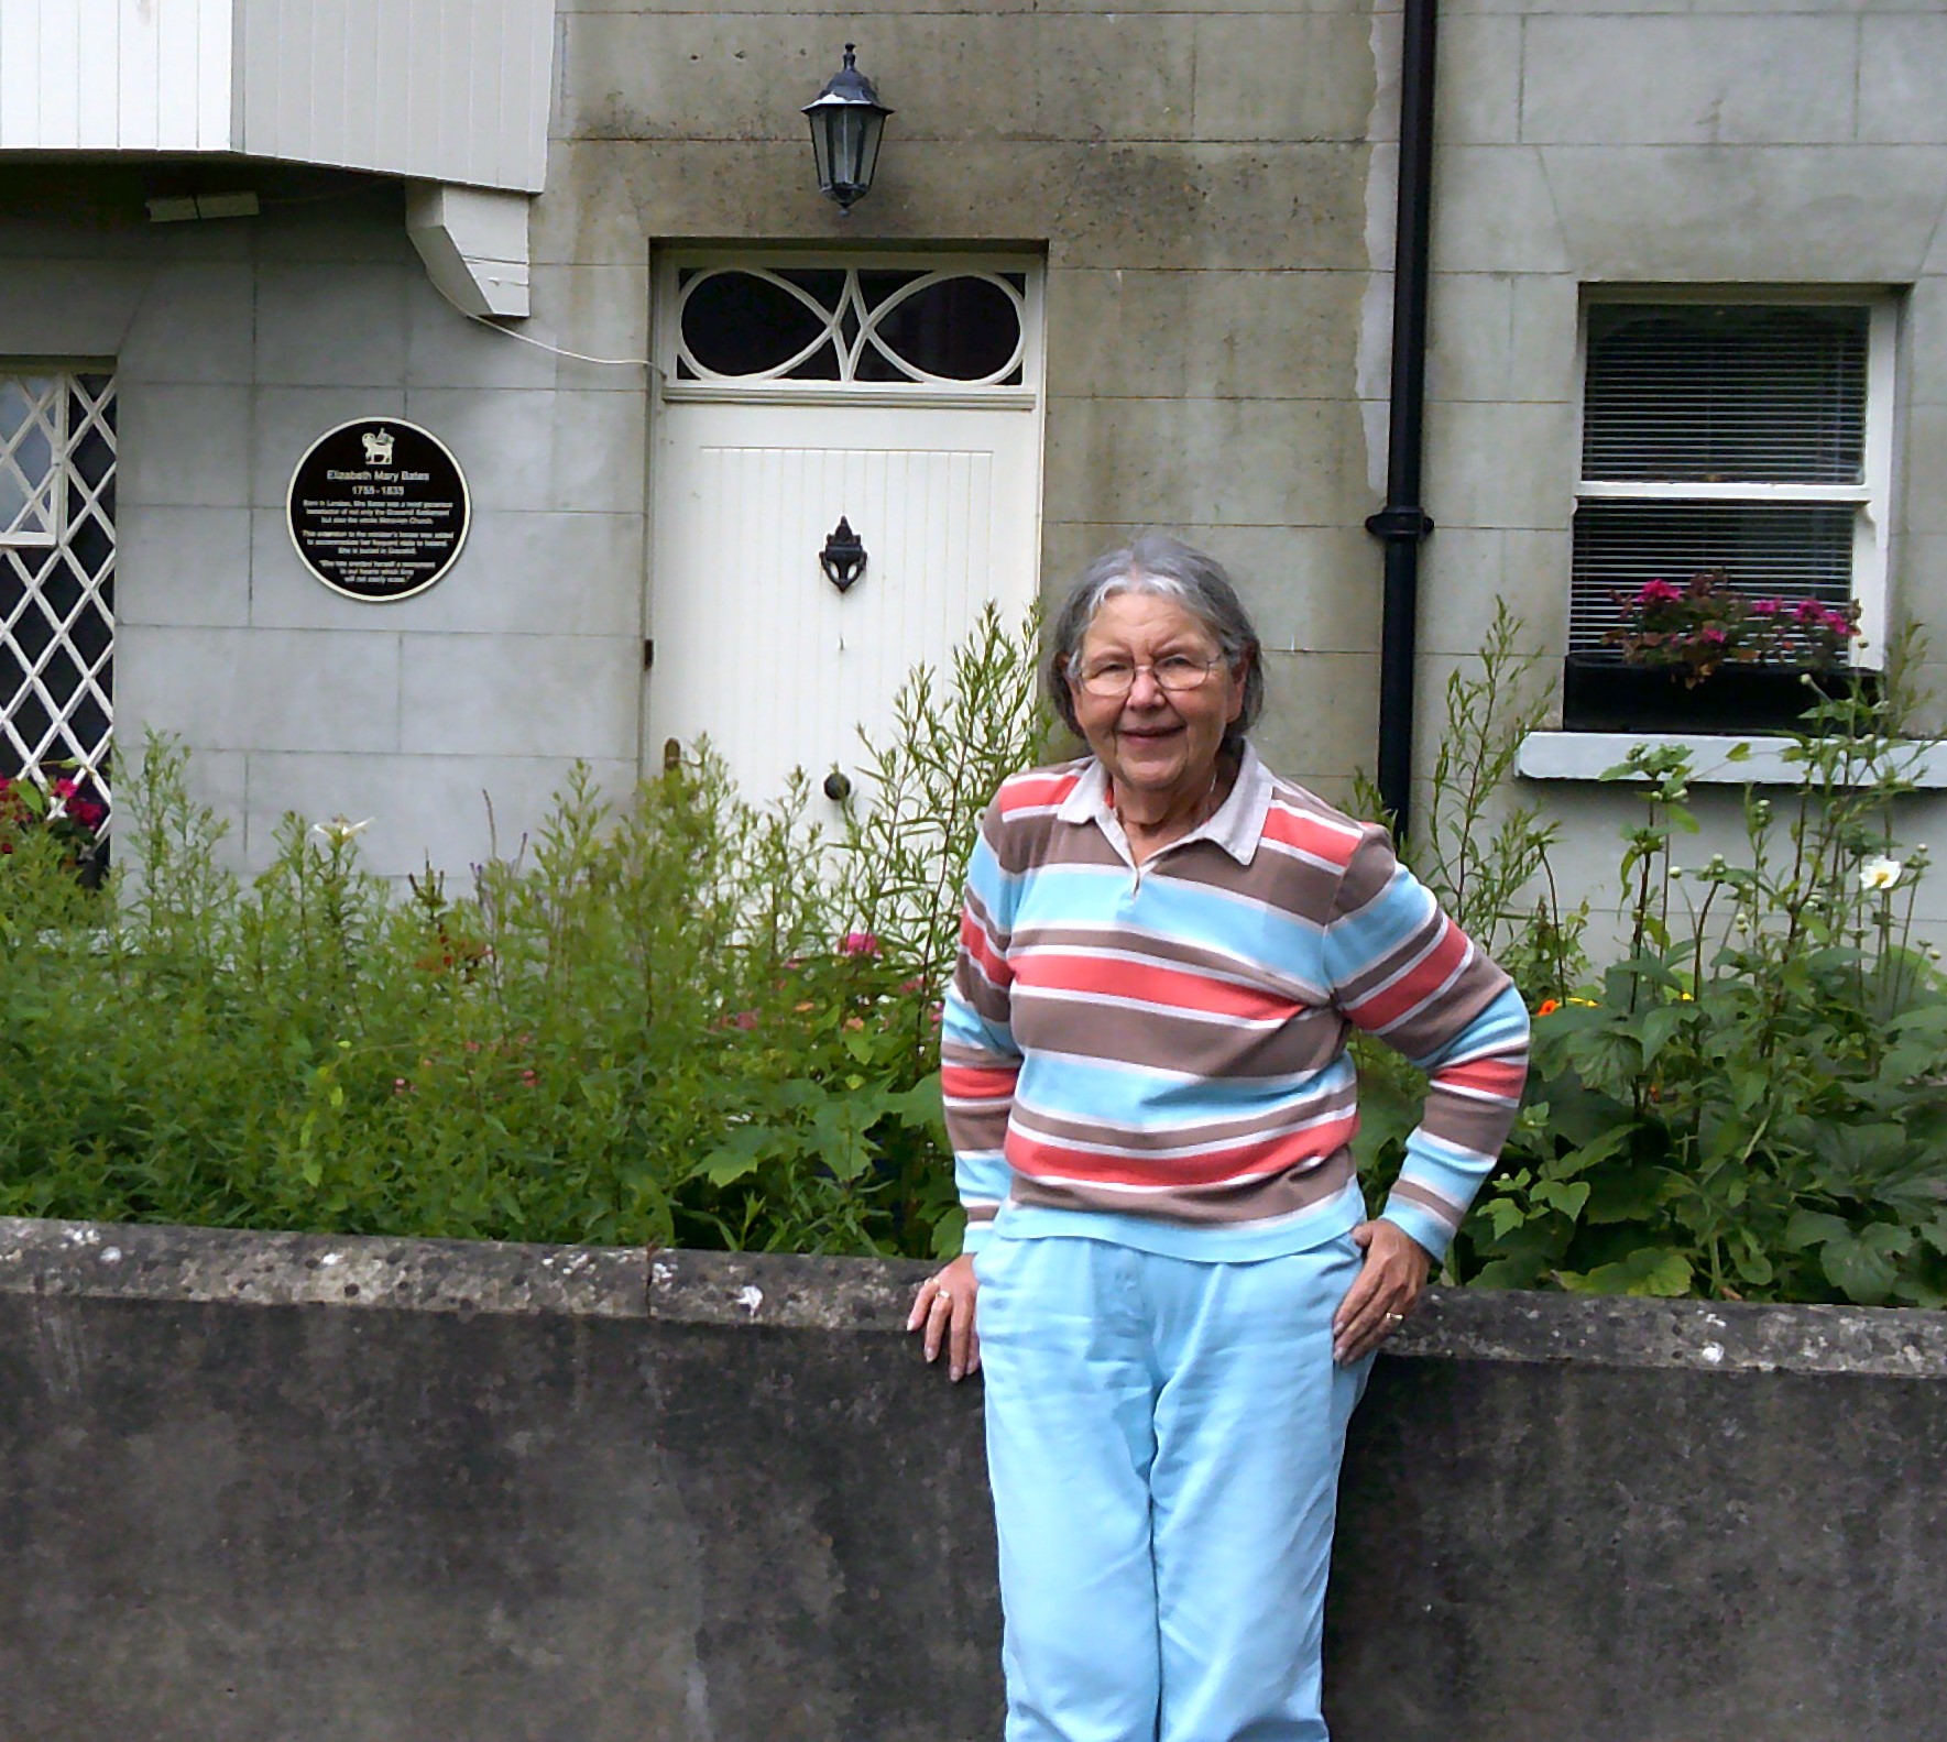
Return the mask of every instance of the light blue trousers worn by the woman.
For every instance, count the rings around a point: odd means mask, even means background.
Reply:
[[[1367,1362],[1349,1236],[1260,1263],[975,1259],[1007,1742],[1326,1742],[1326,1571]]]

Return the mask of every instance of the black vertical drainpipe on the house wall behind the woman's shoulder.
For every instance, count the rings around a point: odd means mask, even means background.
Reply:
[[[1414,648],[1419,541],[1433,522],[1419,506],[1427,391],[1427,228],[1433,212],[1433,12],[1406,0],[1400,53],[1400,222],[1392,253],[1392,411],[1386,426],[1386,506],[1365,529],[1386,545],[1378,640],[1378,792],[1406,839],[1414,779]]]

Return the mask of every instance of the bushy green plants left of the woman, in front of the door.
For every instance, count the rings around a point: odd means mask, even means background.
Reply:
[[[465,888],[372,876],[345,817],[286,817],[243,880],[152,740],[93,909],[47,831],[0,858],[0,1213],[956,1244],[940,911],[1032,691],[1032,631],[989,615],[907,685],[843,841],[802,779],[753,806],[697,745],[623,800],[576,771]]]

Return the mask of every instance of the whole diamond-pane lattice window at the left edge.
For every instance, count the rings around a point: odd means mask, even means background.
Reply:
[[[0,368],[0,773],[105,794],[113,652],[115,380]]]

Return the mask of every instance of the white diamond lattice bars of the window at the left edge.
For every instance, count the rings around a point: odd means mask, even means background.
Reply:
[[[53,457],[55,524],[53,537],[0,537],[0,566],[12,586],[0,592],[0,767],[49,773],[76,767],[90,775],[107,796],[105,769],[113,744],[111,670],[115,658],[115,516],[109,496],[115,489],[115,374],[111,362],[0,358],[0,380],[55,380],[60,399],[60,446]],[[88,387],[99,378],[99,393]],[[78,465],[88,442],[105,444],[101,475],[90,483]],[[93,566],[78,549],[95,533],[99,559]],[[72,580],[74,599],[53,605],[47,578],[56,566]],[[18,594],[16,598],[8,598]],[[35,613],[29,621],[29,613]],[[90,652],[78,638],[92,617],[90,638],[101,646]],[[41,640],[45,642],[33,646]],[[60,656],[72,668],[64,689],[51,687],[51,671]],[[45,718],[35,728],[23,724],[23,703],[31,701]],[[92,714],[92,728],[84,716]]]

